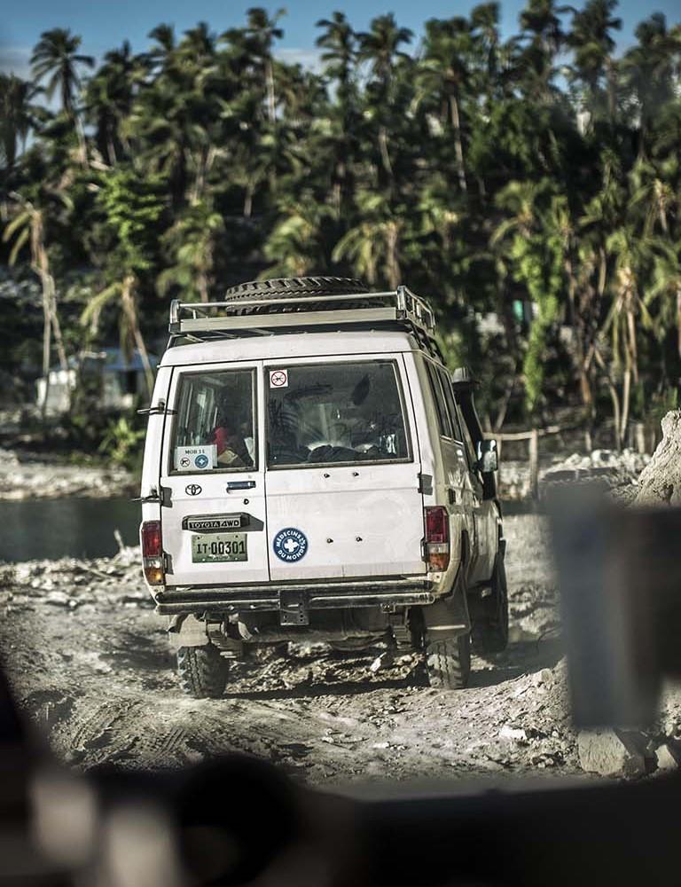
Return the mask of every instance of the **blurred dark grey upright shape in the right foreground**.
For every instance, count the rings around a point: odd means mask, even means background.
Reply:
[[[596,487],[547,500],[577,726],[646,726],[681,674],[681,509],[625,508]]]

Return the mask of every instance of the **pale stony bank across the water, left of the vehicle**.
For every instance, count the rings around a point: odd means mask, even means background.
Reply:
[[[131,496],[137,483],[125,468],[41,461],[0,449],[0,499]]]

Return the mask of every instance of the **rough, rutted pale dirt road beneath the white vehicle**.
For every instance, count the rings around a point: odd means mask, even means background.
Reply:
[[[83,768],[176,767],[228,750],[311,783],[579,767],[537,516],[506,522],[512,643],[474,658],[472,686],[424,686],[416,656],[298,648],[234,668],[224,698],[181,694],[134,553],[4,570],[0,651],[20,703]],[[380,651],[378,651],[380,652]]]

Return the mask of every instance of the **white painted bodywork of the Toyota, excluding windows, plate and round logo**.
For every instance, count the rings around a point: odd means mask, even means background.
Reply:
[[[481,483],[465,443],[442,437],[427,375],[429,358],[406,332],[270,334],[184,344],[168,349],[152,405],[168,413],[149,418],[142,476],[143,520],[160,520],[168,587],[422,577],[435,594],[449,593],[466,557],[469,583],[489,580],[497,553],[497,505],[482,500]],[[267,467],[265,429],[270,368],[348,360],[395,361],[403,396],[410,459],[389,463]],[[431,361],[432,362],[432,361]],[[254,371],[256,465],[248,470],[189,474],[173,470],[176,394],[185,373],[248,367]],[[459,417],[460,419],[460,417]],[[247,490],[228,491],[232,481]],[[192,485],[200,486],[192,495]],[[160,501],[145,502],[156,491]],[[450,515],[450,565],[427,572],[424,506]],[[187,517],[248,514],[247,561],[192,561]],[[281,530],[301,530],[308,549],[299,561],[281,560],[273,541]]]

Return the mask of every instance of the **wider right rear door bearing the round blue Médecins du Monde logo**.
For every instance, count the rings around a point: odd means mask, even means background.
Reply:
[[[270,578],[425,573],[403,355],[265,361],[263,381]]]

